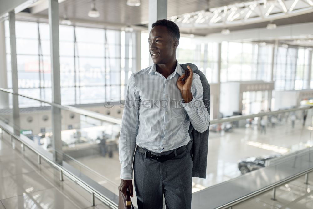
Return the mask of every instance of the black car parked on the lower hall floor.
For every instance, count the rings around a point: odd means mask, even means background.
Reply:
[[[265,167],[265,161],[280,157],[281,155],[270,155],[263,157],[248,157],[238,161],[238,169],[242,174]]]

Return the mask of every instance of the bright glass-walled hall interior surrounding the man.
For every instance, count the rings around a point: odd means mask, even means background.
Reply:
[[[118,208],[123,101],[160,19],[210,84],[192,209],[313,209],[312,0],[1,0],[0,209]]]

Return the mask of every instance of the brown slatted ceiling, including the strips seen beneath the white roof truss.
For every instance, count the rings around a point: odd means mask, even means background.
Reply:
[[[251,0],[250,0],[251,1]],[[37,3],[46,3],[47,0],[39,0]],[[147,27],[148,23],[148,0],[141,0],[141,5],[139,7],[130,7],[126,5],[126,0],[95,0],[95,5],[97,10],[100,12],[99,18],[88,17],[88,12],[91,6],[91,0],[59,0],[59,16],[63,17],[64,14],[67,15],[69,19],[84,20],[84,21],[96,21],[104,23],[113,24],[125,24],[125,25],[143,25]],[[247,0],[167,0],[167,15],[168,17],[196,12],[204,10],[206,8],[216,8],[222,7],[224,5],[236,4],[247,2]],[[269,0],[268,0],[269,2]],[[32,13],[32,9],[28,10]],[[37,15],[47,16],[47,7],[41,7],[41,9],[33,10],[36,11]],[[304,23],[312,22],[313,12],[298,15],[295,17],[283,18],[275,20],[275,24],[286,25],[293,23]],[[252,28],[264,28],[269,23],[260,22],[253,24],[237,25],[233,27],[228,27],[230,31],[244,30]],[[193,28],[186,29],[181,28],[182,33],[193,33],[195,35],[207,35],[210,33],[219,33],[224,27],[215,28]]]

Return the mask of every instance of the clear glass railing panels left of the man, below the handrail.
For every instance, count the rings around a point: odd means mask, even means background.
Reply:
[[[120,170],[118,151],[116,151],[118,150],[120,119],[112,118],[110,121],[110,117],[96,112],[62,106],[62,150],[54,150],[51,141],[53,135],[51,105],[48,102],[18,96],[19,117],[14,119],[13,105],[9,104],[12,104],[12,98],[16,96],[0,91],[0,98],[8,97],[7,104],[1,106],[0,121],[13,127],[18,135],[26,136],[33,145],[62,155],[63,162],[75,168],[78,173],[88,176],[118,196],[120,179],[117,180],[116,177],[119,175],[114,174]],[[12,145],[13,148],[21,151],[22,144],[17,140],[13,140]],[[92,163],[96,158],[98,158],[97,165]],[[38,159],[35,157],[30,160],[37,162]],[[90,166],[91,164],[93,166]],[[91,167],[101,169],[95,171]],[[114,169],[114,167],[117,168]],[[112,172],[115,170],[115,173]]]

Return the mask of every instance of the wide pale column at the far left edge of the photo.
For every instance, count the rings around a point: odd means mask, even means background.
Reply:
[[[4,21],[0,22],[0,88],[8,89]],[[0,109],[9,108],[9,94],[0,92]]]

